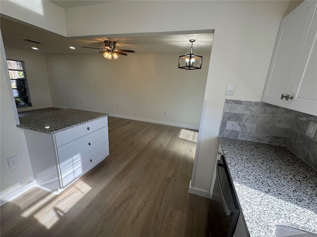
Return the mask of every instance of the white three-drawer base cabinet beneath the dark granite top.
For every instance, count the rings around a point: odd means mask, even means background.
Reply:
[[[107,117],[55,134],[25,129],[38,187],[60,193],[109,155]]]

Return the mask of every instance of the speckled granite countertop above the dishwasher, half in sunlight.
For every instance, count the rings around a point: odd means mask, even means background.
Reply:
[[[274,225],[317,234],[317,171],[285,147],[220,137],[250,237]]]

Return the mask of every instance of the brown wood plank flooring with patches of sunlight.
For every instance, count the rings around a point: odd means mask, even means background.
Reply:
[[[204,237],[209,199],[188,193],[197,131],[108,117],[110,155],[60,195],[1,206],[1,237]]]

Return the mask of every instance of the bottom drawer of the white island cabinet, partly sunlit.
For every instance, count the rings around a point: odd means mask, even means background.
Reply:
[[[109,154],[108,151],[109,149],[106,142],[106,144],[97,147],[93,151],[87,153],[85,156],[70,160],[72,165],[68,169],[61,170],[63,188],[66,188],[77,178],[81,177],[99,162],[104,160]]]

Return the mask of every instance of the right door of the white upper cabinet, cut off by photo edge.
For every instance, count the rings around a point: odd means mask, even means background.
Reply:
[[[291,108],[317,116],[317,13],[293,84]]]

